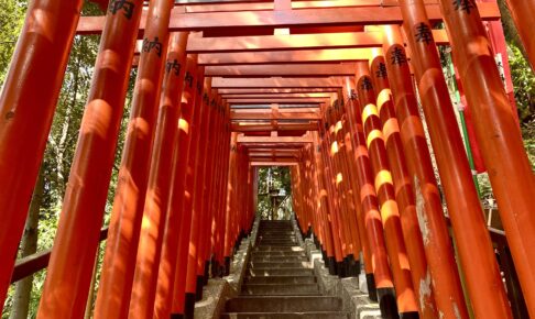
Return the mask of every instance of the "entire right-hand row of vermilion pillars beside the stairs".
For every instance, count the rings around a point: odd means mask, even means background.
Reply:
[[[383,28],[383,50],[347,78],[313,145],[292,167],[299,227],[314,232],[331,274],[357,275],[364,263],[370,298],[379,300],[384,318],[470,318],[472,311],[476,318],[513,318],[440,59],[433,37],[423,33],[429,22],[421,1],[407,2],[401,6],[416,90],[401,29]],[[535,178],[478,12],[441,6],[527,311],[535,316],[535,237],[527,231],[535,226]]]

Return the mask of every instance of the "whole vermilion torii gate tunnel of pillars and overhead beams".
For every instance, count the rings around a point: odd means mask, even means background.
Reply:
[[[99,3],[106,15],[80,18],[81,0],[28,8],[0,98],[0,305],[11,282],[47,266],[37,318],[81,318],[107,238],[95,318],[190,317],[251,230],[258,167],[284,165],[330,273],[363,263],[370,297],[402,318],[535,318],[535,177],[494,1]],[[535,2],[507,3],[535,66]],[[15,267],[73,40],[86,34],[101,34],[100,50],[54,246]],[[489,230],[437,46],[451,47],[504,232]]]

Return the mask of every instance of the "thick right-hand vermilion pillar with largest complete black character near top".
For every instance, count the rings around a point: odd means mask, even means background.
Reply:
[[[402,0],[400,4],[474,314],[481,318],[511,318],[424,2]]]

